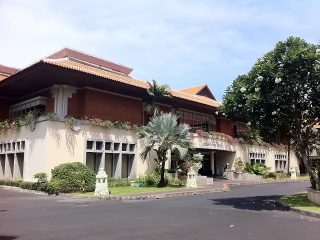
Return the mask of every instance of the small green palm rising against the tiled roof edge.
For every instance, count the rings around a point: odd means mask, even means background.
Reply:
[[[159,113],[159,107],[155,104],[155,99],[160,97],[172,97],[172,93],[166,88],[170,88],[168,84],[159,85],[156,80],[152,79],[152,83],[147,81],[149,88],[146,91],[152,97],[152,104],[146,106],[146,111],[151,116]]]

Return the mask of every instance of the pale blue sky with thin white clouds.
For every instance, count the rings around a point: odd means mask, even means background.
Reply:
[[[0,0],[0,64],[63,46],[172,89],[206,83],[217,100],[277,41],[320,39],[319,0]]]

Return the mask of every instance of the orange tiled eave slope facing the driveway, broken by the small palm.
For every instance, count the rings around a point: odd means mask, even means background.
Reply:
[[[53,64],[53,65],[62,66],[62,67],[66,67],[69,69],[74,69],[74,70],[86,72],[89,74],[105,77],[108,79],[123,82],[123,83],[130,84],[133,86],[142,87],[145,89],[147,89],[149,87],[149,84],[146,81],[141,81],[136,78],[132,78],[129,76],[125,76],[125,75],[117,74],[117,73],[110,72],[107,70],[103,70],[103,69],[100,69],[100,68],[97,68],[94,66],[90,66],[90,65],[86,65],[86,64],[83,64],[83,63],[80,63],[77,61],[69,60],[67,57],[60,58],[60,59],[44,58],[41,60],[46,63]],[[203,85],[202,85],[202,87],[203,87]],[[191,95],[189,93],[185,93],[185,92],[177,91],[177,90],[173,90],[173,89],[167,89],[167,90],[170,91],[172,93],[172,95],[175,97],[179,97],[179,98],[183,98],[186,100],[195,101],[198,103],[202,103],[202,104],[206,104],[206,105],[210,105],[210,106],[215,106],[215,107],[221,105],[220,102],[212,100],[211,98],[208,98],[205,96]]]

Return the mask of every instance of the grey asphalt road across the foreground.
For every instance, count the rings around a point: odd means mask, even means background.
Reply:
[[[319,239],[320,218],[282,211],[307,182],[137,201],[68,199],[0,189],[0,239]]]

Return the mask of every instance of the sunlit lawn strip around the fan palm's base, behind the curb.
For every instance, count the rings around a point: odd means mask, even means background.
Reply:
[[[146,185],[143,187],[135,187],[135,186],[118,186],[118,187],[109,187],[109,191],[111,191],[110,195],[123,195],[123,194],[130,194],[130,193],[140,193],[140,192],[150,192],[150,191],[166,191],[172,189],[183,189],[186,188],[185,186],[179,185],[170,185],[168,184],[166,187],[156,187],[155,185]],[[94,196],[94,191],[91,192],[74,192],[71,194],[75,195],[87,195],[87,196]]]

